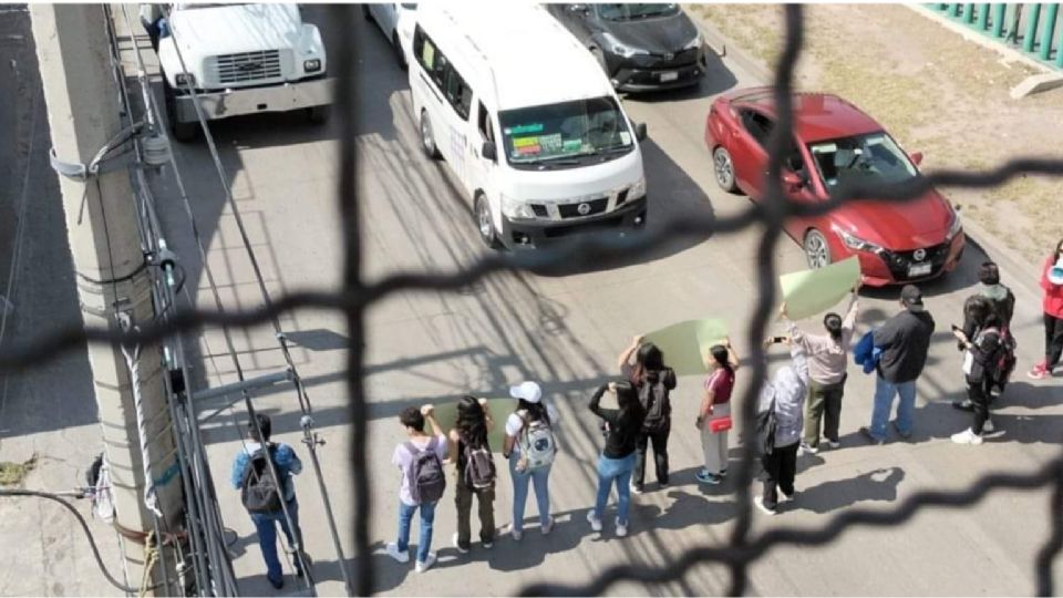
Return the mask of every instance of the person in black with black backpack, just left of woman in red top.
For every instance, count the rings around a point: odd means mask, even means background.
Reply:
[[[633,360],[632,360],[633,358]],[[642,494],[646,481],[646,452],[653,445],[657,483],[668,486],[668,436],[672,430],[672,403],[669,393],[675,389],[675,372],[664,365],[664,353],[652,342],[634,337],[620,353],[620,373],[636,388],[646,411],[642,432],[636,442],[634,473],[631,492]],[[633,363],[632,363],[633,361]]]

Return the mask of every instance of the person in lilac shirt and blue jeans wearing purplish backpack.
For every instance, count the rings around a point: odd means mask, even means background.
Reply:
[[[424,573],[435,564],[432,548],[432,525],[435,505],[446,489],[443,460],[446,457],[446,436],[435,420],[432,405],[406,408],[399,415],[407,440],[395,446],[392,464],[402,472],[399,482],[399,539],[388,544],[388,554],[399,563],[410,561],[410,524],[415,513],[421,514],[421,538],[417,540],[415,570]],[[432,424],[432,435],[424,433],[424,422]]]

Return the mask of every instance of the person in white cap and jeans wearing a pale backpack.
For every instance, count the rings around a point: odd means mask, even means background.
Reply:
[[[543,402],[543,389],[535,382],[522,382],[509,388],[509,395],[518,400],[517,409],[506,420],[506,440],[502,455],[509,460],[513,478],[513,523],[509,535],[515,540],[524,536],[524,507],[528,502],[528,485],[535,484],[535,502],[539,509],[539,530],[543,535],[554,529],[550,516],[550,466],[557,454],[553,426],[558,421],[554,405]]]

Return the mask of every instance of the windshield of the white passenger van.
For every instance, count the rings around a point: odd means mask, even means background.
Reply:
[[[514,166],[580,156],[627,154],[634,140],[612,97],[576,100],[498,114],[506,159]]]

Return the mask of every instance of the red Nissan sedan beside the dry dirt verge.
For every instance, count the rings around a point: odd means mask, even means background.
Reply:
[[[798,202],[823,202],[844,181],[899,183],[919,176],[921,154],[907,155],[874,118],[828,94],[794,94],[794,140],[783,187]],[[716,183],[754,202],[764,193],[767,137],[776,115],[772,90],[721,95],[705,121]],[[956,269],[966,238],[960,216],[937,190],[897,204],[859,202],[824,216],[791,218],[786,233],[811,268],[858,256],[864,283],[927,280]]]

